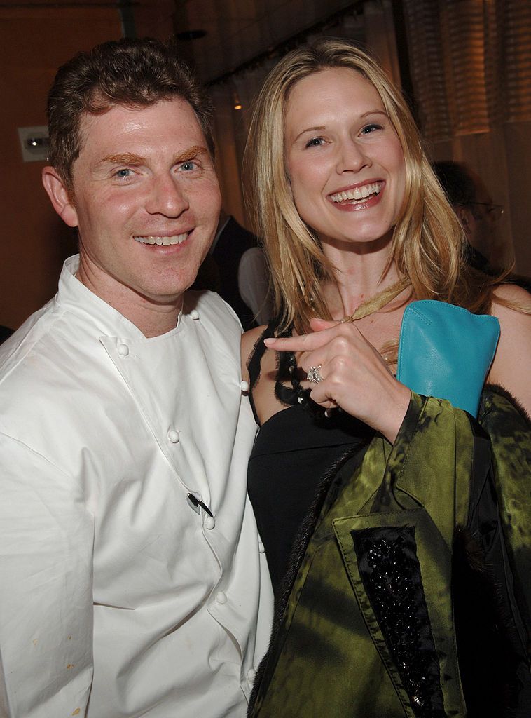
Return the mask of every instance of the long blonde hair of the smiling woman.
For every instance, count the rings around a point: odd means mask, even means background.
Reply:
[[[403,149],[405,194],[382,276],[394,261],[413,299],[439,299],[471,312],[488,312],[494,281],[464,264],[463,229],[438,184],[400,91],[366,52],[344,40],[323,39],[289,52],[273,67],[255,100],[245,149],[247,199],[268,256],[279,330],[293,325],[305,332],[311,317],[331,318],[322,286],[334,281],[334,268],[293,202],[284,119],[296,83],[334,67],[354,70],[373,85]],[[392,296],[382,292],[373,297],[365,314],[382,309]]]

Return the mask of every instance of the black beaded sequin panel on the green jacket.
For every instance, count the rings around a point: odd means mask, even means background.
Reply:
[[[352,531],[358,569],[416,718],[444,718],[441,673],[417,559],[415,528]]]

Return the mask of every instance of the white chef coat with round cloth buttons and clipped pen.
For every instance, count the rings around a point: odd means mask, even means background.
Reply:
[[[0,716],[243,716],[272,597],[239,322],[190,293],[147,339],[76,270],[0,348]]]

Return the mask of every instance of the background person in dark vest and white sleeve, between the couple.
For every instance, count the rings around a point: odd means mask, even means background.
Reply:
[[[244,330],[271,319],[268,267],[258,238],[223,211],[192,289],[210,289],[230,304]]]

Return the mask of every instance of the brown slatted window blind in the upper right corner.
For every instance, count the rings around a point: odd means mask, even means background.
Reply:
[[[531,3],[404,0],[410,67],[430,139],[531,120]]]

